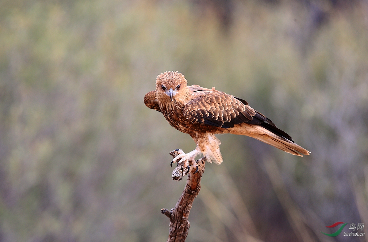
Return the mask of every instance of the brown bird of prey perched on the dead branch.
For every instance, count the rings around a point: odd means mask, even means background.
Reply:
[[[297,145],[290,135],[278,129],[265,115],[257,112],[238,97],[198,85],[187,85],[184,75],[177,71],[161,73],[156,79],[156,90],[144,97],[147,107],[162,112],[177,130],[189,134],[197,147],[189,152],[177,150],[173,162],[181,168],[198,170],[194,158],[202,153],[207,161],[222,163],[220,140],[215,134],[246,135],[297,156],[309,151]]]

